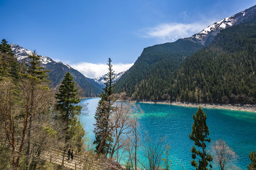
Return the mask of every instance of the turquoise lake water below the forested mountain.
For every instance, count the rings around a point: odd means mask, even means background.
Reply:
[[[100,98],[92,98],[81,101],[88,103],[87,114],[81,116],[81,121],[85,124],[84,129],[91,140],[94,139],[94,114],[99,100]],[[173,169],[181,170],[178,163],[182,162],[186,170],[194,170],[190,164],[193,141],[190,140],[189,134],[192,132],[192,115],[198,108],[147,103],[137,105],[144,111],[139,119],[141,128],[153,139],[166,136],[165,142],[171,146],[169,155],[173,161]],[[238,154],[238,169],[246,170],[251,162],[248,158],[249,153],[256,151],[256,113],[206,108],[203,110],[207,114],[210,144],[217,139],[225,140]],[[210,144],[207,144],[207,149],[210,149]]]

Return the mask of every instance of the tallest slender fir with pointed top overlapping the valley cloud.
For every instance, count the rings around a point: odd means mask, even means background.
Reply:
[[[98,103],[97,110],[95,112],[94,118],[96,119],[96,123],[94,124],[94,134],[95,134],[95,140],[93,144],[96,144],[96,151],[97,153],[106,154],[108,150],[108,146],[110,144],[107,144],[107,141],[111,141],[111,137],[108,136],[105,141],[103,141],[102,147],[99,150],[100,144],[102,140],[104,140],[105,136],[107,136],[109,131],[109,117],[111,114],[111,105],[112,100],[110,99],[110,95],[114,93],[114,71],[111,65],[111,59],[109,58],[109,61],[107,63],[109,72],[107,73],[107,76],[104,77],[104,80],[106,81],[105,87],[102,88],[103,91],[99,95],[101,97],[101,100]],[[109,142],[110,143],[110,142]]]

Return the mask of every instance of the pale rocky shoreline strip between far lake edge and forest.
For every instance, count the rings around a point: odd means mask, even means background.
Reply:
[[[170,104],[175,106],[195,107],[198,108],[212,108],[212,109],[227,109],[256,112],[255,104],[219,104],[219,103],[196,103],[196,102],[167,102],[167,101],[132,101],[150,104]]]

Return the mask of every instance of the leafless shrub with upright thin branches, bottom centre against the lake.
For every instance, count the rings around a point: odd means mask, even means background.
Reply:
[[[147,163],[142,163],[145,169],[160,170],[163,153],[165,152],[164,146],[165,137],[152,139],[146,133],[145,144],[143,144],[142,155],[146,158]]]

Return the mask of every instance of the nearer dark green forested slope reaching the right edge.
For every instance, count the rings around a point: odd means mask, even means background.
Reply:
[[[174,72],[171,98],[192,102],[256,102],[256,19],[221,31]]]

